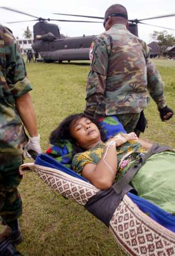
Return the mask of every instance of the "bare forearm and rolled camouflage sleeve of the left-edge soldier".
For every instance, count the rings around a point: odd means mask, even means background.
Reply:
[[[5,33],[5,42],[7,82],[12,96],[14,97],[16,109],[24,126],[31,137],[36,137],[38,135],[36,115],[29,94],[30,90],[32,90],[32,86],[26,77],[27,73],[23,57],[16,44],[16,40],[8,30]]]

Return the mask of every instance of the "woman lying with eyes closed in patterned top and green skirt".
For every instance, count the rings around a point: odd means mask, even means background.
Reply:
[[[51,133],[50,142],[67,139],[78,148],[72,167],[95,187],[109,189],[138,159],[144,162],[133,175],[130,185],[138,196],[175,215],[175,152],[164,150],[147,152],[153,143],[139,139],[135,133],[119,133],[103,142],[97,125],[84,114],[74,114]],[[135,167],[135,166],[134,166]],[[131,168],[133,169],[133,168]]]

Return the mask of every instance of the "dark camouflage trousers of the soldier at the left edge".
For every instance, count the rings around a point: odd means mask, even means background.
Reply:
[[[22,200],[17,189],[22,180],[18,170],[22,163],[22,155],[0,154],[1,221],[13,221],[22,214]],[[0,222],[0,242],[7,236],[9,236],[9,227]]]

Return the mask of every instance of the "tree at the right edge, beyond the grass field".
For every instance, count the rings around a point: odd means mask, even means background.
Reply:
[[[154,31],[153,34],[151,34],[151,38],[158,41],[161,55],[163,55],[167,47],[173,46],[173,44],[175,44],[175,38],[172,34],[168,34],[166,30],[161,32]]]

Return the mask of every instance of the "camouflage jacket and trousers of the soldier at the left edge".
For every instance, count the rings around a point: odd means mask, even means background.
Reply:
[[[0,215],[7,222],[22,213],[22,201],[17,190],[22,176],[18,168],[22,164],[23,146],[27,142],[15,108],[15,98],[31,89],[16,40],[0,24]],[[7,226],[0,225],[0,242],[7,234]]]

